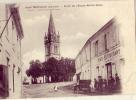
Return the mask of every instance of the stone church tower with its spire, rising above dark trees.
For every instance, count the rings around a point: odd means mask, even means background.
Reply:
[[[60,59],[60,35],[56,33],[52,12],[50,12],[48,32],[44,37],[45,61],[54,57]]]

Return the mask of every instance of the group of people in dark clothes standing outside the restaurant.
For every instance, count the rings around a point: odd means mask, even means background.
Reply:
[[[98,91],[113,91],[120,90],[120,78],[116,73],[115,76],[110,76],[109,79],[103,79],[102,76],[98,76],[98,79],[94,79],[94,88]]]

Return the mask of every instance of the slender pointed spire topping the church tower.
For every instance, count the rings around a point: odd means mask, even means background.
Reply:
[[[53,21],[53,16],[52,16],[52,11],[51,10],[50,10],[48,34],[56,34],[55,25],[54,25],[54,21]]]

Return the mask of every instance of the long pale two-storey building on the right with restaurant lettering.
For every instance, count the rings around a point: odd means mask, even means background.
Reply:
[[[121,79],[124,65],[123,41],[116,19],[111,19],[92,35],[78,53],[76,64],[77,80],[91,80],[102,77],[109,80],[117,74]]]

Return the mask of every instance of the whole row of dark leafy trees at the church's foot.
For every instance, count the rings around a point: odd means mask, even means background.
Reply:
[[[75,72],[75,60],[70,58],[57,60],[53,57],[43,63],[39,60],[32,60],[29,69],[26,70],[27,76],[31,76],[34,82],[36,82],[37,77],[43,75],[48,77],[48,81],[51,77],[52,82],[71,81]]]

